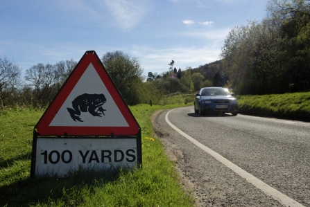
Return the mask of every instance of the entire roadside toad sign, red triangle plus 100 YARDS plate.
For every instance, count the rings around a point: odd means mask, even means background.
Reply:
[[[31,177],[142,162],[141,128],[95,51],[86,51],[33,129]]]

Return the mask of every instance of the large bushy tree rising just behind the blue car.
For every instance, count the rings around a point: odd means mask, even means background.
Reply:
[[[229,78],[240,94],[284,92],[288,81],[279,58],[284,42],[269,20],[236,26],[225,39],[221,53],[223,64],[219,65],[220,73],[214,74],[214,84],[225,84],[225,78]],[[223,81],[218,82],[221,79]]]

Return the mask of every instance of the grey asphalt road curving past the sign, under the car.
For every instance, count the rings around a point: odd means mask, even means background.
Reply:
[[[154,125],[197,206],[310,206],[310,123],[184,107]]]

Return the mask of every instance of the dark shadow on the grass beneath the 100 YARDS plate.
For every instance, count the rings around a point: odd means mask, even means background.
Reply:
[[[101,170],[80,168],[69,172],[69,177],[28,178],[0,187],[0,206],[79,206],[83,196],[92,194],[94,186],[105,186],[116,181],[129,170]],[[62,205],[60,205],[62,206]]]

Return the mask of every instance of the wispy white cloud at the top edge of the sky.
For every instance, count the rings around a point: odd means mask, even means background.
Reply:
[[[146,0],[105,0],[107,7],[117,23],[123,30],[135,27],[146,15],[150,6]]]

